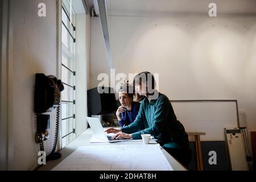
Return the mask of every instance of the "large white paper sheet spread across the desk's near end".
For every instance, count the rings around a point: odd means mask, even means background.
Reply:
[[[159,144],[79,147],[52,170],[172,171]]]

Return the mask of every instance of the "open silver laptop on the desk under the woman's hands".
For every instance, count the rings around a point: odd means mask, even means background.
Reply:
[[[112,139],[112,137],[110,135],[107,135],[101,125],[100,119],[98,118],[90,118],[90,117],[86,117],[90,128],[92,129],[92,133],[94,135],[94,137],[102,140],[102,142],[122,142],[122,141],[126,141],[126,140],[132,140],[132,139]]]

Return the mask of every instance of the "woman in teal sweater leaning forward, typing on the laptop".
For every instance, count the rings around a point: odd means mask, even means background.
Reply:
[[[113,138],[141,139],[141,134],[151,134],[163,148],[185,167],[191,162],[188,135],[177,120],[167,96],[155,89],[155,79],[150,72],[134,77],[134,85],[142,100],[133,123],[122,129],[110,128]]]

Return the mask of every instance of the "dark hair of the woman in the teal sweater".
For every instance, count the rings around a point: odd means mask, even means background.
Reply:
[[[155,86],[156,86],[156,82],[155,82],[155,78],[154,76],[152,75],[152,73],[150,72],[141,72],[139,73],[138,75],[136,75],[134,78],[133,78],[133,85],[136,86],[136,85],[141,85],[142,82],[147,82],[147,95],[152,95],[154,93],[148,93],[148,88],[149,89],[155,89]],[[142,101],[144,98],[144,96],[140,96],[138,93],[137,93],[137,101]]]

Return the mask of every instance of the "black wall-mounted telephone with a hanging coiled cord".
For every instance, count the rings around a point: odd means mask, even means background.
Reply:
[[[59,134],[59,117],[60,117],[60,92],[64,90],[61,80],[55,76],[46,76],[43,73],[36,73],[35,80],[35,100],[34,111],[36,113],[37,131],[35,140],[40,145],[40,151],[44,151],[43,140],[47,140],[49,133],[49,114],[42,114],[52,111],[57,107],[56,129],[54,144],[51,154],[47,156],[47,160],[58,159],[61,157],[59,152],[55,152],[57,139]]]

